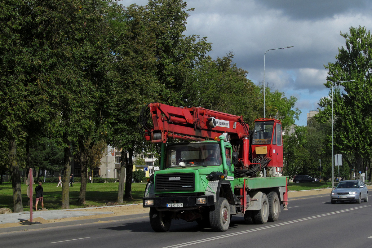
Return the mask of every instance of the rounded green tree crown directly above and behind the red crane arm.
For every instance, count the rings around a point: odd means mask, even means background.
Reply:
[[[188,107],[200,106],[232,115],[243,115],[251,124],[259,117],[259,89],[247,79],[248,72],[232,61],[232,52],[222,58],[210,57],[196,63],[192,77],[183,86]]]

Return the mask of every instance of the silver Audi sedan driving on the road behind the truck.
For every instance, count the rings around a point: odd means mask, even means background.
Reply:
[[[337,201],[368,202],[368,189],[361,180],[343,180],[331,192],[331,203]]]

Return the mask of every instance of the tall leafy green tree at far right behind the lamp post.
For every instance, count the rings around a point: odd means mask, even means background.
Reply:
[[[336,87],[333,94],[334,144],[342,154],[356,158],[356,171],[365,171],[363,160],[372,157],[372,37],[361,26],[350,27],[349,31],[350,34],[340,32],[346,46],[339,48],[336,62],[325,66],[325,86],[331,88],[338,81],[355,80],[336,84],[343,86],[344,92]],[[322,114],[330,116],[330,99],[321,99],[320,106],[325,108]]]

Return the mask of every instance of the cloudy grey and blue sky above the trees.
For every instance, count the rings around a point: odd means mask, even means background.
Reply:
[[[147,0],[122,0],[121,4],[146,5]],[[301,111],[297,125],[305,126],[307,113],[317,110],[330,89],[324,86],[338,48],[340,35],[350,26],[372,29],[372,4],[368,0],[189,0],[184,35],[208,37],[212,59],[230,51],[247,78],[265,84],[286,97],[297,98]],[[276,49],[294,46],[286,49]],[[270,50],[269,49],[275,49]],[[267,52],[266,52],[267,51]],[[265,55],[266,52],[266,55]],[[266,116],[267,117],[267,116]]]

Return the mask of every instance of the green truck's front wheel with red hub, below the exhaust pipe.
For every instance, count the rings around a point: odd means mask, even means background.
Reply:
[[[220,197],[214,205],[215,209],[209,212],[209,224],[215,232],[225,232],[230,225],[230,206],[225,198]]]

